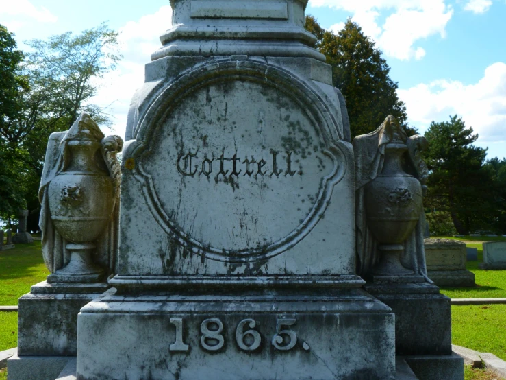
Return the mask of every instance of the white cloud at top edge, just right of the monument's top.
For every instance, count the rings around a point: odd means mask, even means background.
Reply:
[[[386,55],[400,60],[425,56],[425,50],[416,46],[417,41],[435,34],[444,38],[453,16],[453,8],[445,0],[312,0],[311,5],[351,12],[353,21],[377,41]],[[379,16],[385,12],[390,16],[379,25]]]

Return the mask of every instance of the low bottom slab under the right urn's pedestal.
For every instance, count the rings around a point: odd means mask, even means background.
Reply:
[[[464,360],[451,355],[409,356],[404,358],[420,380],[462,380]]]

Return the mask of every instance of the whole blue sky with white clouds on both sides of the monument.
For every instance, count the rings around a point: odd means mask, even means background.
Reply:
[[[377,42],[399,82],[409,123],[458,114],[488,156],[506,157],[506,0],[309,0],[307,13],[338,30],[351,16]],[[97,82],[94,102],[111,104],[112,133],[123,135],[143,66],[170,27],[168,0],[0,0],[0,23],[22,41],[80,32],[108,21],[121,30],[125,58]]]

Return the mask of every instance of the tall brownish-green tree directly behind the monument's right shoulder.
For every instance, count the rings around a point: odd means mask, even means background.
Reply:
[[[306,16],[305,28],[317,38],[316,48],[332,67],[334,86],[346,99],[351,136],[376,130],[388,115],[394,115],[408,135],[404,103],[397,97],[397,82],[390,79],[390,67],[376,49],[375,42],[348,19],[337,35],[322,29],[313,16]]]

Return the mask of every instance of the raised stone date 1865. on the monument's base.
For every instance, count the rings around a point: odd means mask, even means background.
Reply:
[[[175,342],[170,344],[169,351],[186,352],[190,346],[183,342],[183,318],[170,318],[170,324],[175,326]],[[236,327],[236,343],[242,351],[255,351],[260,348],[262,335],[257,331],[259,323],[251,318],[239,322]],[[296,346],[297,335],[290,326],[296,324],[294,318],[277,318],[276,331],[270,340],[271,344],[279,351],[289,351]],[[219,351],[225,346],[223,335],[223,322],[219,318],[208,318],[201,323],[201,347],[205,351]],[[303,342],[305,351],[309,351],[309,345]]]

